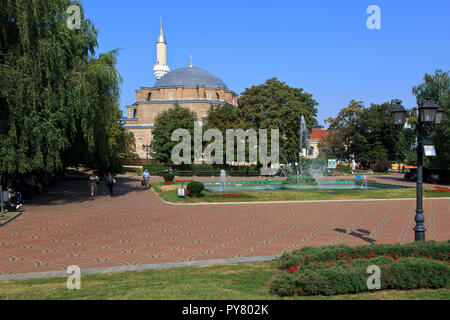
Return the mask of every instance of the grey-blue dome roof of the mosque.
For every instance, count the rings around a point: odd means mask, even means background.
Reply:
[[[179,68],[170,71],[156,81],[154,88],[197,87],[228,89],[226,84],[212,73],[200,68]]]

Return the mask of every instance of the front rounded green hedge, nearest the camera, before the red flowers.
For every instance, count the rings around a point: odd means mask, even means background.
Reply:
[[[435,289],[450,287],[450,267],[443,262],[425,258],[387,257],[340,261],[331,265],[300,265],[277,276],[271,289],[280,296],[336,295],[370,291],[367,268],[380,268],[381,290]]]

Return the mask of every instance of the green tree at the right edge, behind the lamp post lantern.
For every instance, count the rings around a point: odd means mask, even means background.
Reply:
[[[424,82],[412,89],[417,105],[423,105],[428,99],[434,100],[444,109],[441,125],[435,126],[433,143],[436,147],[436,159],[430,159],[430,165],[448,169],[450,167],[450,77],[449,72],[436,70],[434,75],[425,74]]]

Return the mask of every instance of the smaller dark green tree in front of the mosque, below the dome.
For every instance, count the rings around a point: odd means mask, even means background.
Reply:
[[[191,160],[193,160],[194,122],[197,114],[188,108],[175,103],[172,108],[160,113],[155,118],[152,131],[152,157],[155,161],[171,163],[172,149],[179,143],[172,141],[172,132],[176,129],[186,129],[191,134]]]

